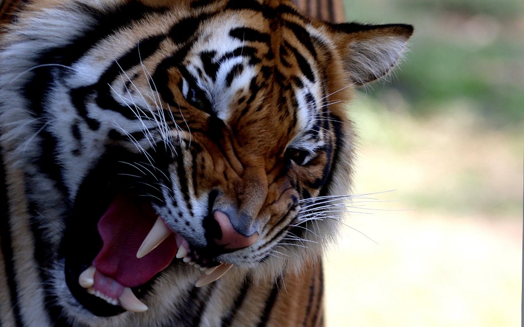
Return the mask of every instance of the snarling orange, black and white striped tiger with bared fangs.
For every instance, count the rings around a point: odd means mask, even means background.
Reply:
[[[1,325],[323,326],[357,196],[346,105],[413,27],[290,0],[4,4]]]

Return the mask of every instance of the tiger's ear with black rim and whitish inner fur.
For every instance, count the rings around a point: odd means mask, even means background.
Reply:
[[[411,25],[329,24],[346,74],[356,85],[386,75],[399,61],[413,33]]]

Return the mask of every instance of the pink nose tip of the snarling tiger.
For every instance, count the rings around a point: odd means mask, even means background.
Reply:
[[[252,245],[258,240],[258,233],[254,232],[252,235],[246,236],[237,232],[228,217],[222,211],[214,211],[213,218],[220,226],[221,233],[216,234],[215,243],[223,245],[226,249],[237,250],[243,249]],[[218,237],[221,236],[220,239]]]

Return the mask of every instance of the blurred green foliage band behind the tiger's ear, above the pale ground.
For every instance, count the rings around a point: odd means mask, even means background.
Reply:
[[[348,20],[415,26],[405,62],[372,85],[388,109],[471,110],[492,128],[524,122],[524,1],[345,0]],[[366,90],[367,91],[367,90]],[[395,97],[391,98],[391,94]]]

